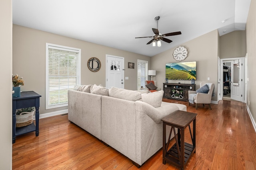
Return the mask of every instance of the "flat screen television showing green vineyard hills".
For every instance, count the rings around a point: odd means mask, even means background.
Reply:
[[[196,80],[196,61],[166,63],[165,78],[168,80]]]

